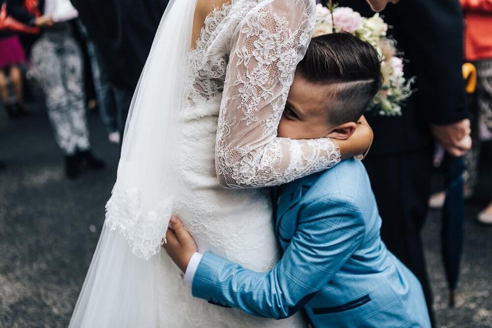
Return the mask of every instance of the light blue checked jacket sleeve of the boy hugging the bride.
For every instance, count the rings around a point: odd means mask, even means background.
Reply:
[[[289,317],[326,286],[359,247],[362,215],[352,199],[340,196],[306,207],[282,259],[265,273],[205,253],[193,279],[193,296],[256,316]]]

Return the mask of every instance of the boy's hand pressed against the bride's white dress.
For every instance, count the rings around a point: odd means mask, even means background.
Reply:
[[[198,248],[196,247],[195,240],[184,229],[183,223],[177,216],[171,217],[170,228],[167,229],[166,239],[167,243],[164,243],[162,247],[164,247],[167,255],[169,255],[184,273],[191,256],[198,251]]]

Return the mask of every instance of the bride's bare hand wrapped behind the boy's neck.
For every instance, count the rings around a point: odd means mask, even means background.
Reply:
[[[347,140],[336,140],[340,147],[341,159],[366,157],[372,145],[373,137],[368,121],[362,116],[357,123],[354,134],[350,138]]]

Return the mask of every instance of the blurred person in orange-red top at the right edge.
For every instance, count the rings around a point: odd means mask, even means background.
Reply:
[[[460,0],[465,14],[465,57],[477,68],[477,90],[470,104],[472,150],[465,156],[465,195],[471,197],[477,184],[482,139],[492,130],[492,0]],[[489,131],[486,131],[489,129]],[[478,215],[492,224],[492,202]]]

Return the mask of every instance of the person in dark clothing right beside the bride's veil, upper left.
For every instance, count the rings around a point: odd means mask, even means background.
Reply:
[[[108,69],[123,133],[133,92],[169,0],[71,2]]]

